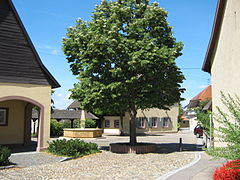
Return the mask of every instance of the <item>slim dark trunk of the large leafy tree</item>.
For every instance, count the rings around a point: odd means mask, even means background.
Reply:
[[[130,144],[131,145],[137,144],[136,115],[137,115],[137,110],[135,105],[133,105],[130,111]]]

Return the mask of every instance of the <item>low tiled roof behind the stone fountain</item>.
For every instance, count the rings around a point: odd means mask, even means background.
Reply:
[[[81,110],[60,110],[54,109],[53,113],[51,114],[52,119],[80,119],[82,111]],[[95,115],[90,112],[85,112],[85,117],[87,119],[99,119]],[[32,110],[32,118],[38,119],[38,111],[36,109]]]

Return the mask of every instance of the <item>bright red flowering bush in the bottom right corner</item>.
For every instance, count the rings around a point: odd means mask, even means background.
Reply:
[[[213,179],[240,179],[240,160],[229,161],[222,167],[217,168],[213,174]]]

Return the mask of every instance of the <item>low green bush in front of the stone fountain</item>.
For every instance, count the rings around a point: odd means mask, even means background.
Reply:
[[[87,143],[79,139],[57,139],[49,143],[48,151],[68,157],[81,157],[87,154],[93,154],[99,152],[98,145],[95,143]]]

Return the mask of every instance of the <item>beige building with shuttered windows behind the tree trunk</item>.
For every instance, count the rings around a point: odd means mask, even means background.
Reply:
[[[137,133],[146,132],[177,132],[179,106],[176,104],[170,110],[149,109],[138,110],[136,118]],[[130,116],[125,113],[121,123],[119,116],[104,116],[102,127],[104,133],[119,134],[120,130],[124,134],[129,134]]]

